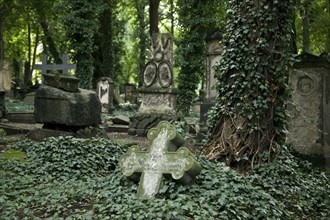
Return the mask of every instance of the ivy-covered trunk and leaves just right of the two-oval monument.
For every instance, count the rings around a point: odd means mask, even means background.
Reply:
[[[177,106],[188,115],[198,84],[204,77],[204,37],[210,29],[220,27],[218,20],[224,16],[224,6],[222,1],[179,0],[177,7],[180,27],[176,50],[176,65],[180,68]]]

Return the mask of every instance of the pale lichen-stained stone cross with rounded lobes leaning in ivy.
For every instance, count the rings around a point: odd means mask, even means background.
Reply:
[[[181,147],[184,141],[175,126],[162,121],[149,130],[147,137],[151,141],[149,151],[139,151],[133,146],[119,162],[125,176],[142,173],[137,196],[153,197],[161,187],[163,174],[188,183],[200,173],[201,166],[194,155]],[[177,148],[176,152],[169,152]]]

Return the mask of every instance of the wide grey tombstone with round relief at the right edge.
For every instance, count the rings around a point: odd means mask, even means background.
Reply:
[[[330,57],[304,53],[297,59],[289,78],[288,142],[328,163],[330,174]]]

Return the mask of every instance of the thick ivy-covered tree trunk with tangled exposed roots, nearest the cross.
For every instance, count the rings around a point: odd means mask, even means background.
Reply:
[[[272,159],[284,143],[293,1],[230,0],[219,98],[203,153],[228,165]]]

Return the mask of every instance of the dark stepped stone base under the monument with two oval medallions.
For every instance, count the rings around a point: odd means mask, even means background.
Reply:
[[[147,136],[148,131],[156,127],[161,121],[176,120],[173,114],[138,114],[130,119],[128,128],[129,135]]]

